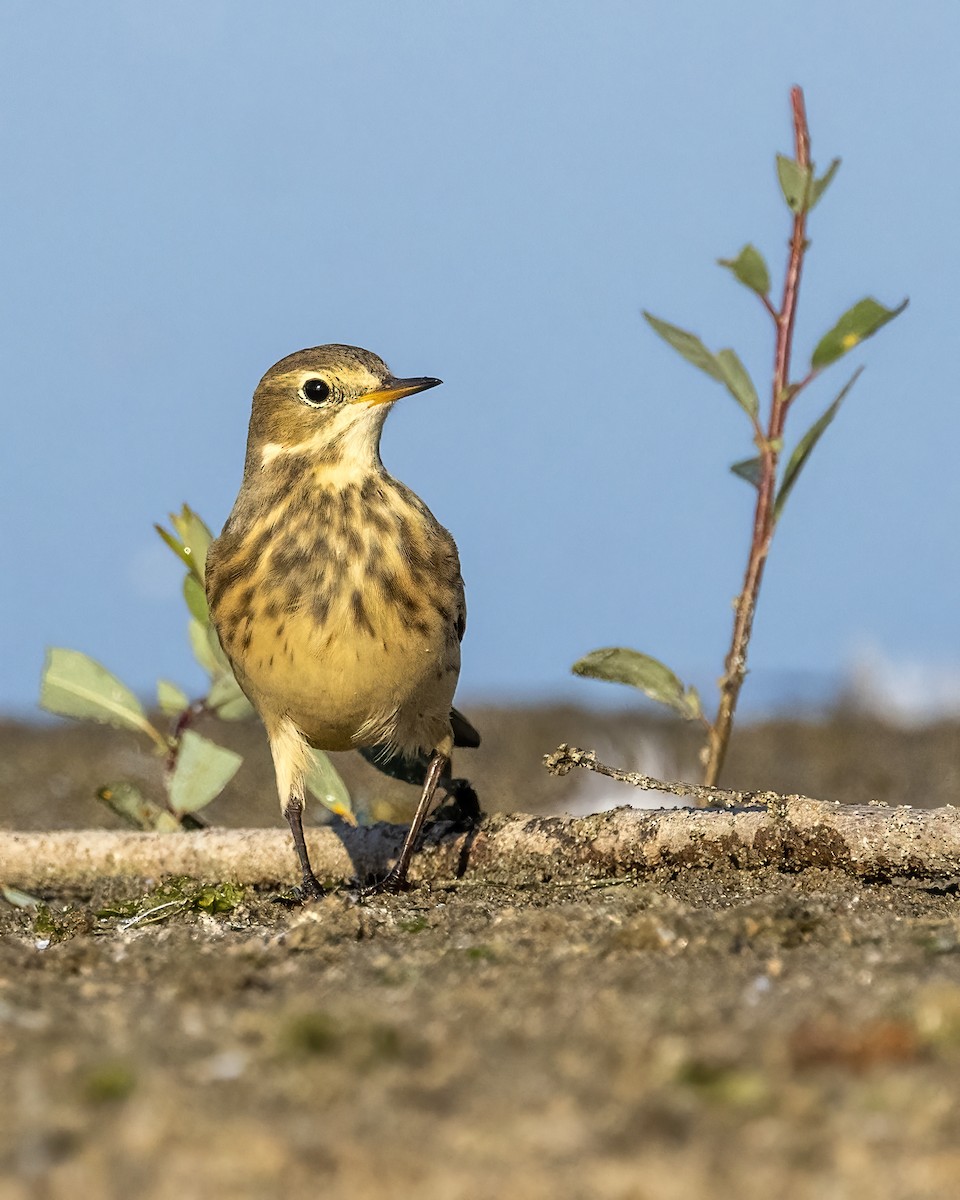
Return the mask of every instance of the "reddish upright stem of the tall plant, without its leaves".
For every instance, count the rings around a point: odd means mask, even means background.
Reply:
[[[793,109],[793,138],[797,163],[802,168],[810,166],[810,132],[806,125],[806,110],[803,91],[793,88],[790,94]],[[746,650],[754,629],[760,586],[763,581],[763,569],[770,551],[770,540],[775,524],[774,503],[776,498],[776,468],[780,461],[780,439],[784,436],[784,421],[796,391],[790,388],[790,358],[793,348],[793,323],[797,316],[797,299],[800,290],[800,276],[806,251],[806,209],[794,214],[793,232],[790,239],[790,257],[784,278],[784,298],[776,311],[764,298],[766,306],[776,322],[776,350],[774,354],[773,394],[770,397],[770,416],[767,434],[758,442],[761,470],[757,488],[757,503],[754,510],[754,532],[750,540],[750,553],[746,559],[743,587],[737,596],[733,617],[733,635],[730,650],[724,661],[724,674],[720,679],[720,704],[716,720],[710,727],[707,739],[707,762],[703,782],[715,787],[724,768],[730,734],[733,728],[733,716],[746,676]],[[804,380],[806,383],[809,380]],[[799,390],[799,389],[797,389]]]

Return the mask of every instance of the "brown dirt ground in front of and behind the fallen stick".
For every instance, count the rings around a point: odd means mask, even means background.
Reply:
[[[546,776],[559,740],[692,758],[635,719],[488,730],[487,810],[636,799]],[[232,736],[251,761],[216,820],[278,822],[256,727]],[[402,808],[361,768],[358,794]],[[0,824],[115,824],[92,790],[151,770],[132,737],[0,726]],[[942,805],[959,772],[958,726],[844,716],[745,730],[727,781]],[[468,872],[131,924],[151,886],[0,901],[0,1200],[960,1196],[960,870]]]

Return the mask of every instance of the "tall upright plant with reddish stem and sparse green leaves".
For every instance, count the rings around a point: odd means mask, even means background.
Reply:
[[[838,392],[834,401],[793,445],[784,462],[785,425],[794,401],[822,372],[845,354],[871,337],[878,329],[893,320],[906,307],[905,300],[896,308],[886,308],[872,298],[866,298],[848,308],[834,326],[820,338],[809,365],[798,377],[792,371],[793,329],[797,301],[803,274],[804,258],[809,248],[806,221],[833,181],[840,160],[817,176],[810,157],[810,133],[806,126],[803,92],[794,88],[791,92],[793,109],[794,156],[776,156],[776,173],[780,190],[792,214],[790,251],[781,300],[770,299],[770,275],[760,251],[746,245],[736,258],[721,258],[719,264],[750,292],[773,322],[774,368],[769,401],[766,413],[761,412],[760,396],[746,368],[736,350],[722,349],[716,354],[707,349],[695,335],[644,312],[650,328],[677,350],[688,362],[698,367],[712,379],[724,385],[737,401],[749,422],[755,452],[730,468],[734,475],[756,490],[752,535],[746,560],[743,587],[734,601],[733,631],[719,682],[720,700],[716,715],[709,720],[695,688],[685,686],[680,679],[658,659],[638,650],[607,648],[594,650],[574,664],[574,673],[594,679],[608,679],[630,684],[660,704],[665,704],[685,720],[700,721],[706,731],[702,751],[704,782],[715,786],[724,767],[733,718],[740,688],[746,676],[746,652],[754,626],[757,596],[763,580],[763,570],[770,552],[770,544],[784,506],[797,484],[797,479],[827,426],[836,416],[863,367],[859,367]]]

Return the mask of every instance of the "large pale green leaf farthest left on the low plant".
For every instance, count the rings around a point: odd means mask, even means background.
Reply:
[[[130,688],[80,650],[67,650],[60,646],[47,650],[40,707],[60,716],[137,730],[149,734],[157,745],[166,746],[163,736],[150,724],[143,704]]]

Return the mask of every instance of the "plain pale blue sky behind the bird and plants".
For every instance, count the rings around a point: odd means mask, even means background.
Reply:
[[[47,644],[199,684],[152,522],[222,523],[257,380],[322,342],[445,380],[383,454],[460,544],[464,695],[596,698],[568,668],[606,644],[709,683],[749,430],[640,311],[768,385],[768,320],[714,259],[754,241],[779,283],[793,83],[815,160],[844,158],[798,355],[864,295],[911,306],[793,413],[796,438],[866,364],[751,666],[960,671],[958,46],[946,0],[5,5],[0,709],[32,704]]]

